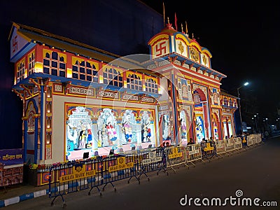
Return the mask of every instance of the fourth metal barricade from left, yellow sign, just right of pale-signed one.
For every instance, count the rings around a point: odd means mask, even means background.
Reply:
[[[174,173],[176,173],[176,170],[174,169],[175,166],[179,166],[181,164],[186,165],[186,151],[187,148],[184,146],[172,146],[165,148],[167,169],[171,168]]]

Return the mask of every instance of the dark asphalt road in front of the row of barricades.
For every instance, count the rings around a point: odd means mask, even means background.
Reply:
[[[91,195],[87,195],[88,190],[65,195],[65,209],[280,209],[279,166],[280,137],[274,137],[262,146],[220,160],[215,158],[206,164],[198,163],[190,169],[176,168],[176,173],[169,171],[168,176],[162,172],[158,176],[153,173],[150,181],[141,176],[140,184],[134,179],[129,184],[127,180],[118,181],[116,193],[107,186],[102,197],[97,190],[92,190]],[[237,192],[243,195],[237,197]],[[182,206],[180,200],[186,196],[190,205]],[[195,198],[200,199],[197,202],[202,206],[195,205]],[[204,207],[207,200],[211,204],[212,198],[220,198],[222,204],[226,202],[225,207]],[[260,198],[260,201],[256,200],[260,205],[264,201],[277,202],[278,207],[242,207],[244,198]],[[62,209],[60,197],[52,207],[50,202],[48,196],[37,197],[5,209]],[[182,204],[185,202],[186,199],[181,200]],[[230,202],[237,203],[232,207]]]

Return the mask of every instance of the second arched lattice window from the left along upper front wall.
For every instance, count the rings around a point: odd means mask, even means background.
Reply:
[[[78,62],[72,66],[72,78],[98,83],[98,71],[90,62]]]

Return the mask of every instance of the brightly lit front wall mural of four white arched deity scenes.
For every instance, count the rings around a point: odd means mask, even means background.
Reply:
[[[66,106],[66,160],[155,145],[154,111]]]

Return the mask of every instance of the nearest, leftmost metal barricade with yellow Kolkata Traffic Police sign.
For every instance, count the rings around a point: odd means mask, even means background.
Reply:
[[[79,190],[102,186],[102,160],[86,160],[82,162],[67,162],[50,167],[48,195],[53,197],[53,205],[57,197],[62,197],[63,207],[66,206],[63,195]],[[52,177],[53,176],[53,177]],[[90,195],[90,192],[89,192]]]

